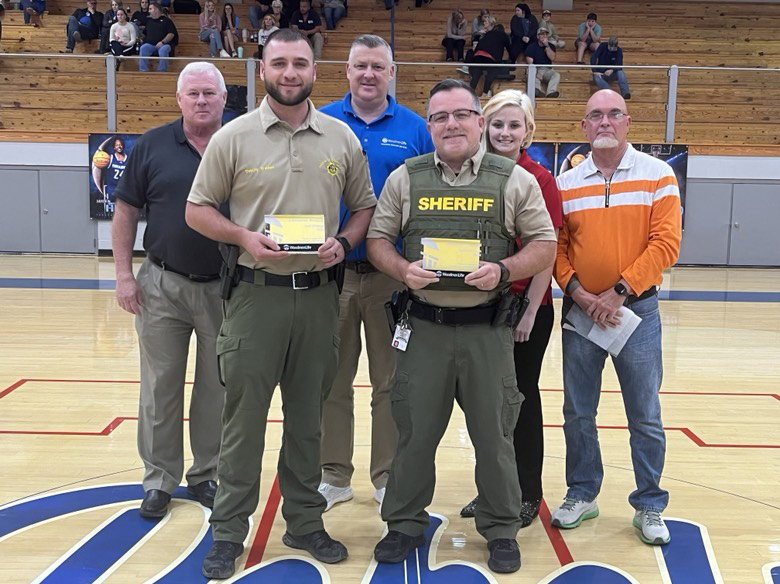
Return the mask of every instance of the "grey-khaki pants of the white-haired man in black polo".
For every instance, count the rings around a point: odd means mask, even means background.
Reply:
[[[146,260],[138,272],[143,296],[135,319],[141,355],[138,453],[144,490],[172,493],[184,472],[184,376],[193,331],[195,383],[190,400],[187,482],[216,479],[225,389],[217,377],[216,339],[222,322],[219,281],[192,282]]]

